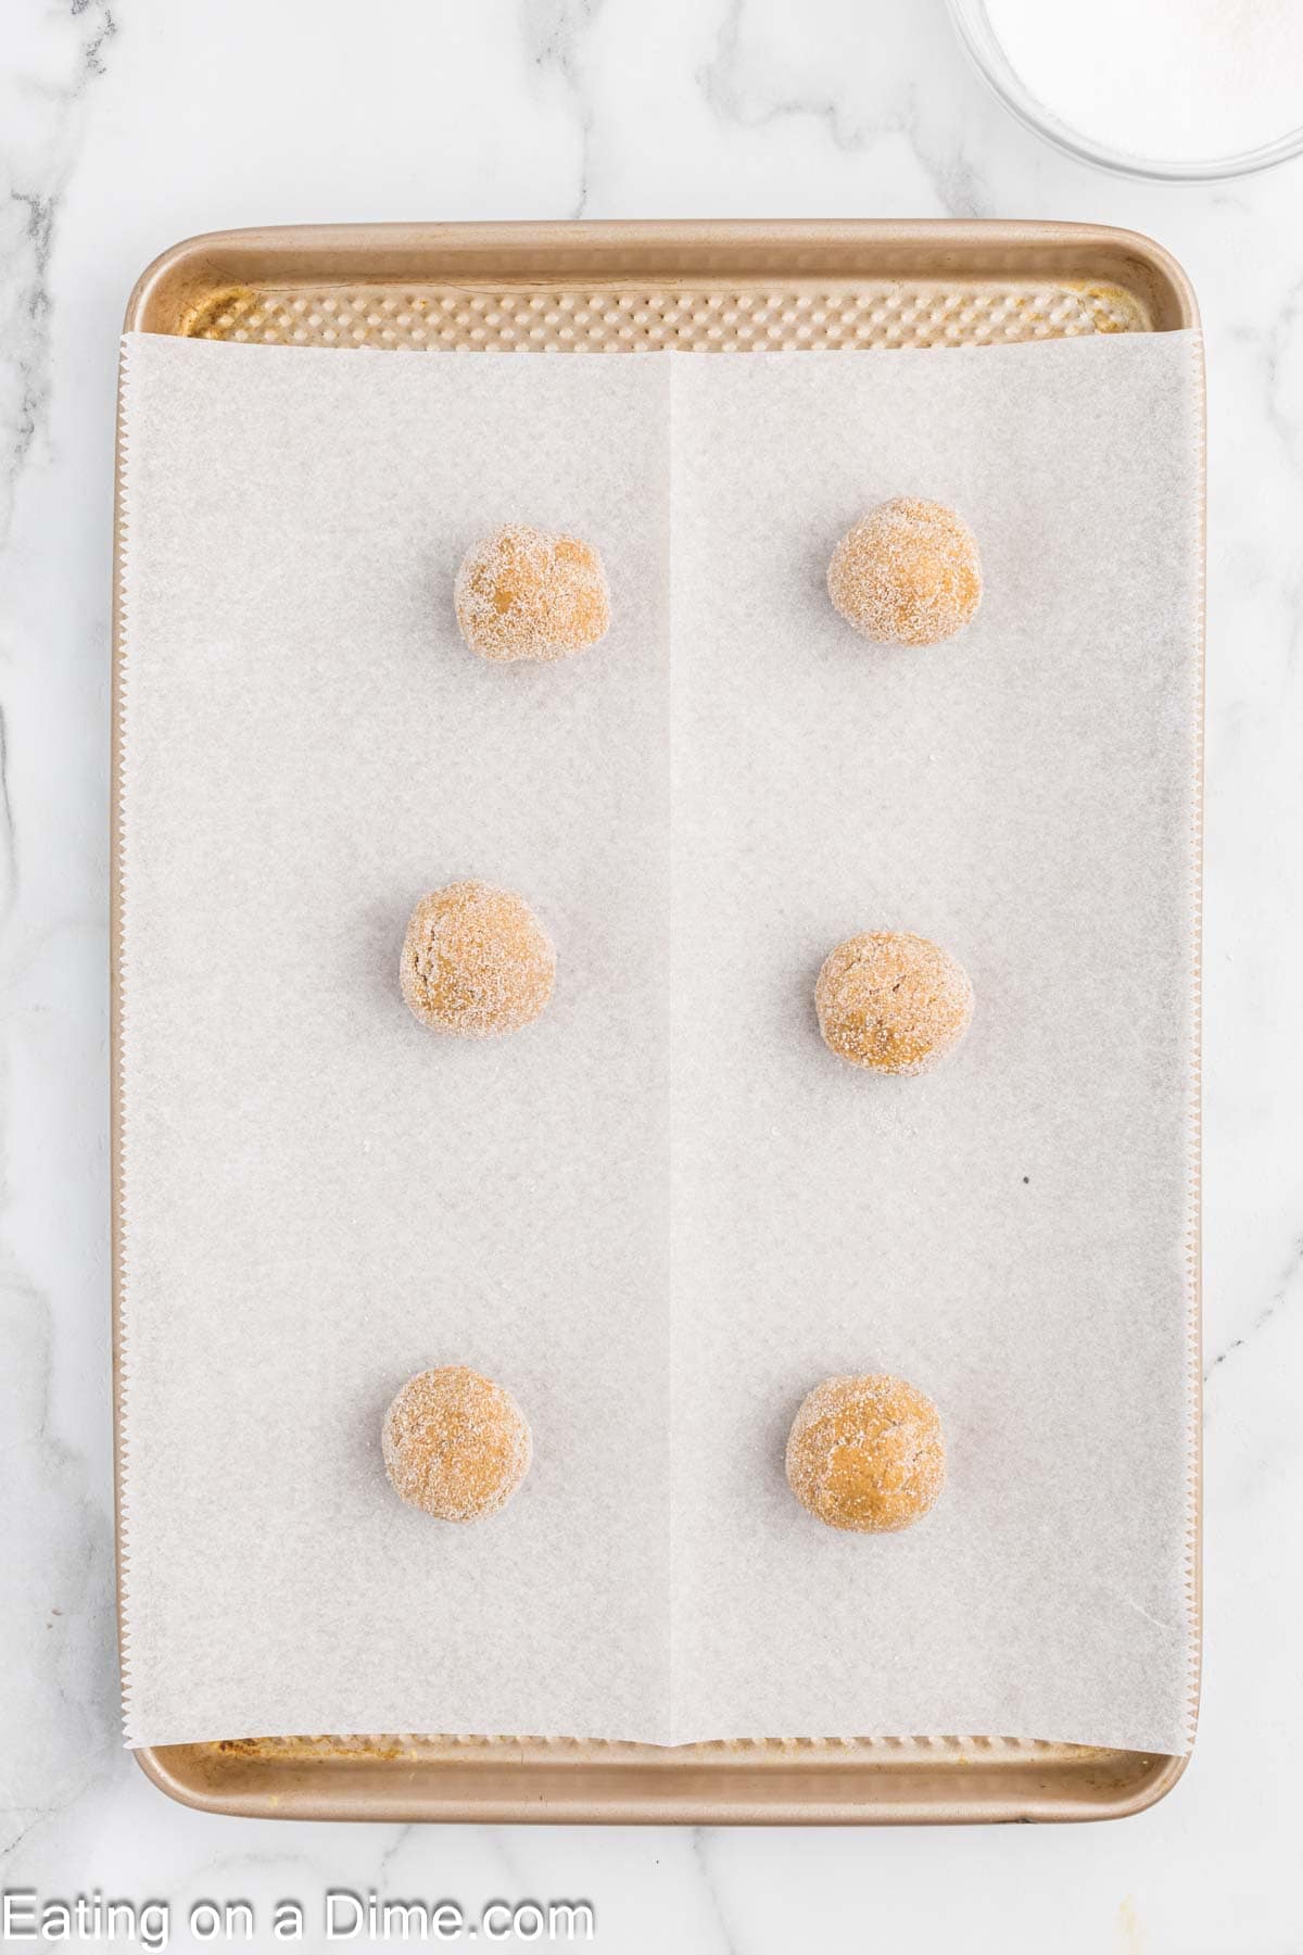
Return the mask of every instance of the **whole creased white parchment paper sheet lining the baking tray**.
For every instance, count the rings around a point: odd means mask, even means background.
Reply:
[[[125,350],[131,1744],[996,1732],[1184,1750],[1198,346],[518,358]],[[871,502],[987,600],[883,651]],[[451,575],[592,536],[609,639],[504,671]],[[672,549],[670,549],[672,526]],[[672,600],[670,600],[672,594]],[[416,895],[525,893],[553,1007],[402,1007]],[[938,1073],[822,1048],[856,929],[932,934]],[[387,1488],[402,1378],[525,1406],[492,1521]],[[797,1402],[889,1368],[949,1486],[836,1537]]]

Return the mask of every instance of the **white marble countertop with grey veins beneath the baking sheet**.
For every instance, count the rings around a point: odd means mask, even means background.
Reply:
[[[987,96],[940,0],[8,0],[0,37],[0,1887],[586,1898],[596,1945],[1303,1949],[1303,162],[1155,188]],[[227,225],[1061,217],[1194,278],[1209,354],[1207,1666],[1112,1826],[328,1828],[205,1818],[121,1750],[105,805],[113,373],[137,272]],[[127,1943],[119,1943],[127,1945]],[[234,1943],[240,1945],[240,1943]],[[320,1945],[309,1933],[309,1945]]]

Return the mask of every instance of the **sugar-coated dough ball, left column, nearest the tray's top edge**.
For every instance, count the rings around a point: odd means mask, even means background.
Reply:
[[[453,602],[471,651],[498,663],[567,659],[606,637],[611,622],[611,592],[592,543],[522,522],[465,553]]]

